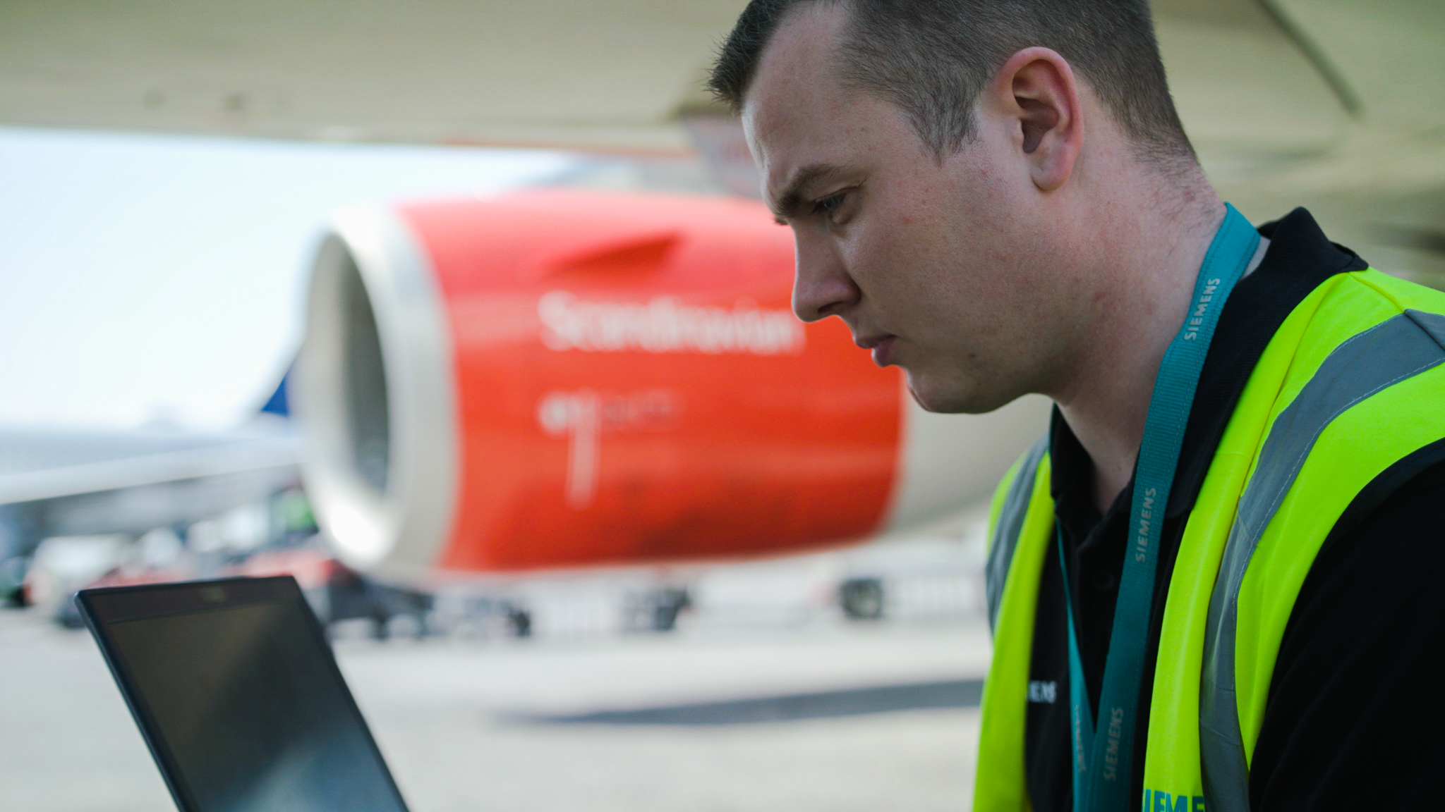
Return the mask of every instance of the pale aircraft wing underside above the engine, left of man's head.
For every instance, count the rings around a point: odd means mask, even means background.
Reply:
[[[0,121],[686,152],[740,0],[45,0],[0,7]]]

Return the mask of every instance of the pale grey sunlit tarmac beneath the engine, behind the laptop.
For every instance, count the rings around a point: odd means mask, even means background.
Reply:
[[[957,812],[988,646],[815,614],[335,650],[412,812]],[[0,611],[0,808],[175,808],[84,631]]]

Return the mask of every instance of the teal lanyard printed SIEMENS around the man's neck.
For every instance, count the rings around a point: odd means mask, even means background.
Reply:
[[[1134,468],[1134,493],[1130,510],[1129,550],[1124,575],[1114,607],[1114,627],[1104,665],[1104,689],[1095,722],[1084,683],[1078,634],[1074,624],[1074,600],[1069,594],[1068,559],[1064,533],[1058,533],[1059,566],[1064,571],[1064,595],[1069,617],[1069,728],[1074,761],[1074,812],[1124,812],[1134,799],[1129,790],[1133,767],[1134,720],[1139,712],[1139,683],[1143,678],[1149,613],[1159,569],[1159,532],[1179,446],[1199,384],[1199,370],[1214,338],[1220,311],[1234,283],[1248,266],[1260,236],[1244,215],[1225,204],[1224,223],[1209,244],[1194,285],[1194,301],[1179,335],[1169,344],[1159,377],[1149,399],[1144,441]],[[1095,733],[1095,724],[1098,731]]]

